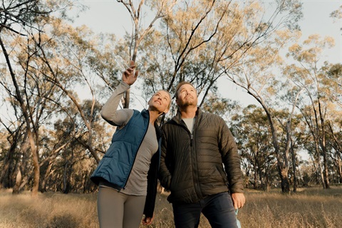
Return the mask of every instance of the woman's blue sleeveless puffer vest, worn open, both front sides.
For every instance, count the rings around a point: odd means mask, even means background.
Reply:
[[[110,182],[117,190],[125,187],[130,171],[132,170],[135,156],[145,137],[150,121],[148,110],[134,110],[132,118],[124,128],[118,128],[112,138],[112,144],[105,152],[105,156],[91,175],[96,185],[100,180]],[[147,196],[144,207],[146,217],[153,217],[155,209],[155,197],[157,195],[157,174],[160,165],[162,132],[155,123],[155,133],[158,140],[158,151],[152,156],[150,170],[147,173]]]

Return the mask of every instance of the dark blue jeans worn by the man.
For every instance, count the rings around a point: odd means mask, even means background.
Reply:
[[[201,212],[212,228],[237,228],[237,217],[228,192],[210,195],[193,204],[173,203],[172,207],[177,228],[198,227]]]

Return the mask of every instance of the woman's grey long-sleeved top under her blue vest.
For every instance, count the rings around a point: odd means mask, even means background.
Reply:
[[[117,110],[120,99],[128,88],[130,88],[128,84],[121,82],[101,110],[103,119],[118,128],[123,128],[133,116],[133,110],[131,109],[124,108]],[[127,195],[147,195],[147,172],[150,169],[152,155],[157,150],[158,142],[155,127],[150,123],[145,138],[142,140],[142,144],[138,150],[137,157],[135,158],[127,185],[121,192]],[[100,186],[110,187],[110,184],[100,182]]]

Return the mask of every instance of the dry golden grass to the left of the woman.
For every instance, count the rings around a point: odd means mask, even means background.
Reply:
[[[63,228],[98,227],[96,196],[29,192],[11,195],[0,192],[0,227]]]

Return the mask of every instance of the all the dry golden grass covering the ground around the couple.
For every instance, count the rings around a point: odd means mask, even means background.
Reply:
[[[296,194],[246,192],[247,204],[239,210],[242,227],[341,227],[342,187],[301,189]],[[0,192],[0,227],[98,227],[96,195]],[[174,227],[172,206],[157,195],[155,221],[150,227]],[[202,217],[200,227],[209,227]]]

